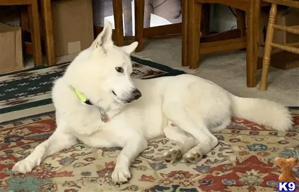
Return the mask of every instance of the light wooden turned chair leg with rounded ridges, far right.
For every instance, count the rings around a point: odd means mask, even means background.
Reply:
[[[269,70],[270,59],[271,59],[271,50],[272,50],[271,43],[273,41],[273,36],[274,36],[273,24],[275,24],[276,15],[277,15],[277,4],[272,3],[270,9],[270,15],[269,15],[268,27],[267,27],[266,42],[265,42],[265,54],[263,58],[262,79],[260,85],[261,91],[267,90],[267,76],[268,76],[268,70]]]

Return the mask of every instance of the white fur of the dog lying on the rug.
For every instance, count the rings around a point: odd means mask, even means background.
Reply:
[[[211,133],[226,128],[231,116],[285,131],[292,127],[291,115],[281,104],[232,95],[211,81],[188,74],[148,80],[131,79],[130,54],[137,42],[116,47],[111,24],[90,48],[82,51],[55,81],[52,98],[57,128],[12,171],[28,173],[41,161],[80,139],[92,147],[123,147],[116,159],[112,179],[127,182],[130,163],[146,149],[149,138],[165,134],[178,145],[165,153],[174,160],[198,161],[218,143]],[[124,72],[117,72],[123,67]],[[72,87],[84,93],[94,106],[80,101]],[[138,88],[142,97],[131,101]],[[112,93],[114,91],[115,94]],[[103,123],[100,110],[110,117]],[[175,152],[175,153],[173,153]]]

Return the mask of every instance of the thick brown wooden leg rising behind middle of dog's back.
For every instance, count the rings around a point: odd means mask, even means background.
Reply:
[[[189,1],[188,18],[188,59],[189,68],[198,68],[199,62],[199,40],[200,40],[200,22],[201,22],[201,3],[195,0]]]

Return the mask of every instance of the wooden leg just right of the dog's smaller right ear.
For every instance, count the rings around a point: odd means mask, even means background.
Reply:
[[[135,41],[138,41],[136,52],[141,52],[144,47],[144,20],[145,20],[145,0],[135,0]]]

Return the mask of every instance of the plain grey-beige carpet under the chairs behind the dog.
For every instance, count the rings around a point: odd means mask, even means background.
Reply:
[[[259,70],[258,85],[247,88],[245,51],[201,56],[196,70],[181,66],[180,38],[146,41],[145,49],[133,55],[209,79],[238,96],[261,97],[287,106],[299,106],[299,68],[282,70],[270,67],[267,91],[258,90],[261,78]]]

